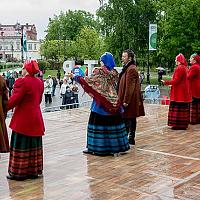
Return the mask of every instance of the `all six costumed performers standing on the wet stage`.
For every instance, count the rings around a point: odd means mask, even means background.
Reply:
[[[87,126],[86,154],[109,156],[126,152],[135,145],[137,117],[144,116],[139,74],[135,54],[127,49],[122,53],[120,74],[111,53],[100,57],[100,67],[90,77],[70,73],[92,98]],[[186,129],[188,124],[200,123],[200,56],[190,57],[188,69],[183,54],[176,57],[171,80],[168,125],[173,129]],[[15,81],[8,98],[5,80],[0,77],[0,152],[10,152],[8,179],[23,181],[35,179],[43,172],[42,136],[45,132],[40,109],[44,83],[35,74],[39,66],[35,60],[25,61],[22,78]],[[9,127],[12,129],[10,145],[5,124],[6,113],[14,109]]]

